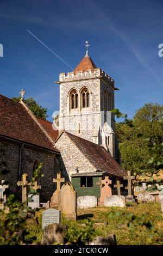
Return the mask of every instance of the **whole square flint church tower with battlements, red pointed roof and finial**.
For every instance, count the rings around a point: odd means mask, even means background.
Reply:
[[[88,47],[86,41],[86,47]],[[88,51],[73,72],[61,73],[59,133],[103,145],[115,158],[114,80],[97,68]]]

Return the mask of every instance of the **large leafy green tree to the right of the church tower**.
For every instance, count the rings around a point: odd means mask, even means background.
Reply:
[[[142,172],[154,174],[163,167],[162,114],[163,105],[147,103],[136,111],[132,125],[129,125],[130,121],[125,116],[123,122],[116,124],[122,168],[137,174]]]

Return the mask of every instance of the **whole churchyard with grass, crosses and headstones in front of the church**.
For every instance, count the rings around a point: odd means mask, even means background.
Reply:
[[[41,186],[37,181],[27,181],[27,174],[17,185],[22,187],[22,202],[14,205],[8,203],[5,191],[9,188],[6,181],[1,185],[1,227],[0,242],[8,244],[33,245],[160,245],[162,244],[162,187],[156,185],[156,191],[151,187],[133,187],[135,176],[128,172],[124,180],[128,181],[127,196],[121,195],[119,181],[114,185],[117,194],[106,196],[104,202],[95,196],[77,198],[71,182],[65,182],[58,173],[53,178],[57,182],[57,190],[51,201],[40,202]],[[106,192],[110,183],[106,176],[101,193]],[[62,186],[61,186],[62,182]],[[29,190],[30,188],[30,190]],[[109,187],[110,190],[110,187]],[[133,194],[135,191],[135,194]],[[101,194],[103,198],[103,194]],[[10,197],[9,197],[10,201]],[[22,224],[12,225],[10,230],[4,226],[17,211],[16,220]],[[20,218],[20,219],[18,219]],[[6,220],[7,223],[4,222]],[[15,221],[14,218],[12,220]],[[3,225],[4,224],[4,225]],[[8,233],[9,228],[9,233]],[[18,237],[18,240],[15,240]],[[9,240],[10,240],[9,239]],[[7,243],[6,243],[7,242]]]

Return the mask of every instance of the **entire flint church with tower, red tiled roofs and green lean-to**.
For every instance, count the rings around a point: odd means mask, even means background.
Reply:
[[[72,72],[61,73],[59,125],[39,119],[22,99],[14,102],[0,95],[0,179],[9,181],[10,191],[17,193],[17,181],[23,173],[28,180],[35,168],[43,163],[41,200],[47,202],[56,189],[53,178],[57,173],[72,182],[77,197],[93,195],[102,202],[102,190],[117,194],[117,180],[123,184],[120,152],[115,134],[114,80],[97,68],[86,55]],[[3,166],[4,163],[4,166]]]

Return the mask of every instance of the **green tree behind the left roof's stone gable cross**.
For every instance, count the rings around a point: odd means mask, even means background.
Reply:
[[[20,102],[21,97],[12,97],[11,100]],[[29,107],[30,111],[32,111],[36,117],[46,120],[46,118],[48,117],[47,108],[43,108],[42,106],[39,106],[39,104],[34,100],[33,97],[30,97],[30,98],[24,100],[24,103],[26,103],[26,105]]]

